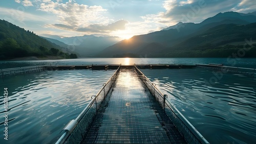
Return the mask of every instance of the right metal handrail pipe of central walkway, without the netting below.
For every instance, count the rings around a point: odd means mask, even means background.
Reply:
[[[152,87],[154,87],[154,93],[158,92],[161,97],[164,99],[164,94],[156,87],[156,84],[152,83],[135,65],[136,71],[139,71],[140,75],[148,82]],[[201,143],[209,143],[203,136],[202,134],[186,119],[186,117],[172,104],[169,102],[168,99],[165,101],[165,106],[167,105],[174,114],[178,113],[178,116],[176,116],[180,119],[180,121],[198,138],[198,140],[201,141]],[[164,108],[165,109],[165,108]]]

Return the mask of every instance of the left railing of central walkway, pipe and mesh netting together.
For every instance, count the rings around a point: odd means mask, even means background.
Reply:
[[[87,105],[86,108],[77,116],[76,119],[72,119],[68,125],[63,128],[65,131],[58,139],[57,143],[80,143],[84,138],[85,134],[89,131],[89,128],[95,118],[95,115],[101,103],[105,100],[106,96],[110,93],[114,87],[116,78],[119,74],[121,66],[115,71],[108,82],[103,84],[103,87],[99,92],[92,96],[92,101]]]

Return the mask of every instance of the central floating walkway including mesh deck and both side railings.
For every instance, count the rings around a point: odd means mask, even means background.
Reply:
[[[136,67],[117,69],[56,143],[208,143]]]

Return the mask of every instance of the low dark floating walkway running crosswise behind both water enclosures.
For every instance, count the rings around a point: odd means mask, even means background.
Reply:
[[[134,64],[135,65],[135,64]],[[134,65],[122,65],[123,68],[131,68]],[[40,65],[40,66],[26,66],[26,67],[16,67],[0,69],[0,77],[9,77],[19,74],[34,73],[43,70],[74,70],[74,69],[91,69],[91,70],[108,70],[117,69],[119,64],[92,64],[92,65]],[[174,68],[196,68],[203,67],[209,68],[216,71],[221,71],[221,73],[232,73],[232,74],[242,74],[245,76],[254,77],[256,76],[255,68],[244,68],[244,67],[232,67],[223,66],[223,64],[136,64],[140,69],[174,69]]]

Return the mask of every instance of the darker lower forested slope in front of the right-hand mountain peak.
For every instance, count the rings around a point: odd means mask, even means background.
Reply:
[[[181,41],[160,55],[164,57],[228,57],[249,46],[250,51],[243,57],[256,57],[255,39],[256,23],[219,25]]]

